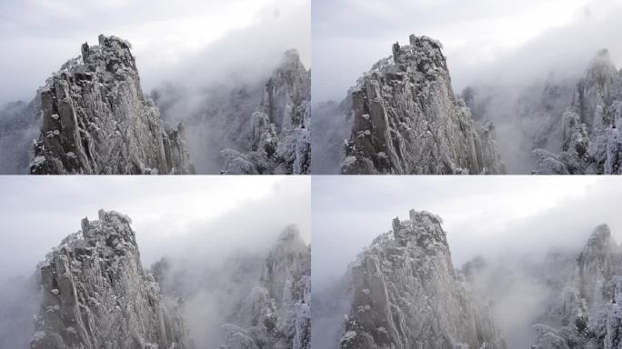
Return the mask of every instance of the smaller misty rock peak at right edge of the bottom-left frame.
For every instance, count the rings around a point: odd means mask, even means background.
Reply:
[[[308,349],[311,251],[288,227],[267,255],[258,284],[237,307],[239,324],[223,326],[222,349]]]

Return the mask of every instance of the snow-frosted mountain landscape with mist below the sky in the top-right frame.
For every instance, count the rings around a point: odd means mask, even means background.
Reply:
[[[607,49],[583,72],[484,78],[460,93],[441,49],[411,36],[343,102],[315,105],[316,173],[620,173],[622,71]]]

